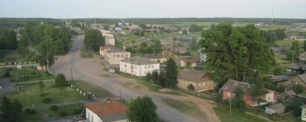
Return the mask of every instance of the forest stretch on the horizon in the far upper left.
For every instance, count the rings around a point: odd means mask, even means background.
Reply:
[[[59,26],[61,24],[60,19],[52,18],[0,18],[0,28],[9,27],[9,28],[18,28],[23,27],[27,22],[33,22],[36,24],[47,23],[54,26]]]

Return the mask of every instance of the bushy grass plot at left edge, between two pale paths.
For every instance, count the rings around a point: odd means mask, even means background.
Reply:
[[[38,71],[36,67],[24,67],[21,69],[7,68],[7,70],[10,70],[11,74],[13,75],[11,77],[7,77],[10,79],[10,82],[16,82],[16,75],[17,82],[38,81],[54,78],[52,74],[45,71]],[[0,72],[2,72],[2,68],[0,68]]]

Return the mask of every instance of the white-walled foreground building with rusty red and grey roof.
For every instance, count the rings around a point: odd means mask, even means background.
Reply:
[[[86,118],[90,122],[126,122],[129,107],[113,99],[86,105]]]

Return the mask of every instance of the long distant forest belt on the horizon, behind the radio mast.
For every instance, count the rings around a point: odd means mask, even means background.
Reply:
[[[96,18],[96,23],[114,24],[121,21],[129,23],[148,23],[148,24],[180,24],[183,22],[217,22],[217,23],[271,23],[271,18],[228,18],[228,17],[215,17],[215,18]],[[95,23],[94,18],[83,19],[62,19],[65,22],[85,22]],[[274,18],[276,25],[292,25],[293,23],[306,23],[306,19],[287,19],[287,18]]]

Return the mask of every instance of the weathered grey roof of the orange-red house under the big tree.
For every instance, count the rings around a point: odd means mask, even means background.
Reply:
[[[250,85],[250,86],[249,86]],[[246,82],[240,82],[240,81],[235,81],[229,79],[223,86],[220,88],[220,90],[227,90],[227,91],[232,91],[235,92],[236,88],[240,87],[244,94],[246,95],[252,95],[252,91],[255,88],[255,84],[250,84]]]

